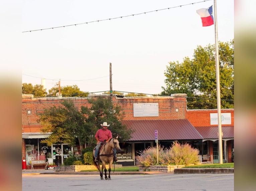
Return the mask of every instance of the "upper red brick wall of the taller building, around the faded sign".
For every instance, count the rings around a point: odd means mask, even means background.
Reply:
[[[168,97],[127,97],[117,98],[113,96],[113,104],[118,104],[123,108],[125,117],[123,120],[155,120],[155,119],[185,119],[186,113],[186,97],[182,96],[168,96]],[[109,97],[108,95],[106,97]],[[72,99],[79,109],[81,106],[90,107],[88,98],[74,98]],[[53,106],[63,106],[62,98],[32,98],[22,99],[22,127],[40,127],[39,117],[45,108]],[[159,116],[155,117],[134,117],[133,103],[158,103]],[[177,109],[178,111],[176,111]]]

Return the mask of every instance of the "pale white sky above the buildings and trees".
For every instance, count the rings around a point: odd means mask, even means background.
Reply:
[[[44,78],[47,92],[58,81],[89,93],[109,91],[112,63],[113,91],[160,94],[169,62],[193,59],[197,46],[215,43],[214,25],[202,27],[196,13],[214,1],[200,1],[23,0],[22,83]],[[229,42],[234,1],[216,2],[218,40]],[[91,22],[109,18],[117,19]],[[53,29],[25,32],[45,28]]]

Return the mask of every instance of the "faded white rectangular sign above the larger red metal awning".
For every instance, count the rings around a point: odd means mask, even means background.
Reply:
[[[158,116],[158,103],[133,103],[134,117]]]

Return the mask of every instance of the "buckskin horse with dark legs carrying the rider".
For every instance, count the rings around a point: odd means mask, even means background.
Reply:
[[[101,146],[101,148],[99,150],[99,162],[95,162],[95,158],[96,158],[95,157],[95,149],[93,150],[93,162],[94,162],[94,165],[97,167],[97,169],[100,171],[101,180],[103,180],[103,168],[105,171],[105,179],[111,180],[110,172],[111,172],[111,166],[112,166],[113,158],[114,158],[113,148],[115,148],[117,152],[121,151],[121,148],[119,146],[119,141],[117,138],[118,138],[118,136],[116,138],[110,139],[107,143],[102,143],[103,145]],[[101,168],[100,168],[100,161],[102,162]],[[108,177],[107,177],[106,163],[109,163]]]

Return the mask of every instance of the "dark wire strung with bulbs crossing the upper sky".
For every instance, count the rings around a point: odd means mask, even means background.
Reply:
[[[185,4],[185,5],[179,5],[179,6],[175,6],[175,7],[169,7],[169,8],[164,8],[164,9],[158,9],[158,10],[154,10],[154,11],[147,11],[147,12],[143,12],[143,13],[137,13],[137,14],[126,15],[126,16],[121,16],[121,17],[114,17],[114,18],[110,18],[110,19],[102,19],[102,20],[90,21],[90,22],[85,22],[85,23],[78,23],[78,24],[73,24],[73,25],[65,25],[65,26],[58,26],[58,27],[50,27],[50,28],[44,28],[44,29],[36,29],[36,30],[23,31],[22,33],[32,32],[32,31],[42,31],[42,30],[48,30],[48,29],[56,29],[56,28],[62,28],[62,27],[64,28],[64,27],[77,26],[77,25],[83,25],[83,24],[94,23],[94,22],[100,22],[100,21],[107,21],[107,20],[113,20],[113,19],[120,19],[120,18],[123,18],[123,17],[131,17],[131,16],[135,16],[135,15],[142,15],[142,14],[146,14],[146,13],[152,13],[152,12],[157,12],[157,11],[163,11],[163,10],[166,10],[166,9],[172,9],[172,8],[177,8],[177,7],[186,6],[186,5],[193,5],[193,4],[197,4],[197,3],[203,3],[203,2],[206,2],[206,1],[211,1],[211,0],[205,0],[205,1],[195,2],[195,3],[189,3],[189,4]]]

